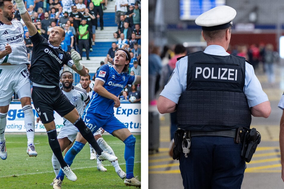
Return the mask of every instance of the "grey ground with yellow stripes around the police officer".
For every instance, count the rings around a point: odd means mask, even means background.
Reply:
[[[260,145],[257,147],[250,163],[247,163],[242,189],[278,189],[284,188],[281,179],[281,163],[279,149],[279,122],[282,110],[277,107],[284,91],[283,68],[275,69],[276,83],[267,82],[266,75],[261,69],[256,71],[263,90],[268,95],[271,103],[271,115],[265,119],[252,117],[251,128],[255,127],[262,136]],[[156,107],[149,107],[149,111],[157,111]],[[159,152],[149,154],[149,188],[171,189],[183,188],[182,178],[179,172],[179,162],[168,155],[169,136],[169,114],[159,115]],[[158,129],[158,127],[157,127]]]

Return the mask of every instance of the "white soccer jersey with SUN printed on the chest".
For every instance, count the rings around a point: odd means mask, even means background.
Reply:
[[[24,28],[20,21],[12,20],[11,25],[4,24],[0,21],[0,51],[5,50],[5,46],[9,44],[12,52],[0,59],[1,63],[11,64],[29,64],[27,58],[27,49],[24,43]]]

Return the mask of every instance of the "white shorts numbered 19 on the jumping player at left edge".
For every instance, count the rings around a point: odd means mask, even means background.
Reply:
[[[20,99],[31,97],[29,76],[26,64],[0,65],[0,106],[9,105],[14,92]]]

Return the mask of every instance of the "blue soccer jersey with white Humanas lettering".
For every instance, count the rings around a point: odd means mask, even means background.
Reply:
[[[136,76],[125,72],[118,73],[112,65],[105,64],[98,70],[95,80],[103,81],[103,87],[118,97],[126,85],[135,83]],[[113,106],[114,101],[112,99],[95,93],[85,108],[85,113],[90,112],[109,116],[114,114]]]

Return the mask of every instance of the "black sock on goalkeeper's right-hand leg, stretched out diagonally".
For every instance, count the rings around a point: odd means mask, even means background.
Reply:
[[[99,147],[99,144],[95,140],[93,133],[85,125],[82,118],[79,117],[78,120],[76,120],[73,124],[78,128],[79,132],[82,134],[82,137],[84,137],[89,142],[89,144],[95,149],[96,153],[100,156],[103,150]]]

